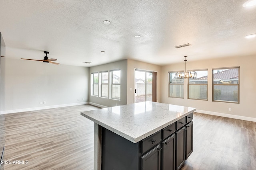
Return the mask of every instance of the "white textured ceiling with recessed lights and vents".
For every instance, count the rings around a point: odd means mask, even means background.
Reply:
[[[0,31],[6,57],[43,59],[49,51],[77,66],[243,57],[256,55],[256,39],[244,38],[256,33],[256,7],[244,8],[245,1],[0,0]],[[174,48],[186,43],[192,46]]]

